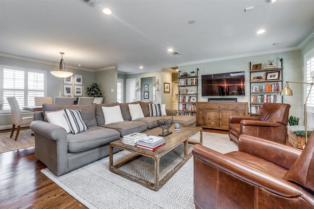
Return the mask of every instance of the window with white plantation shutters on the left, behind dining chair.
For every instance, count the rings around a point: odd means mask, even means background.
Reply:
[[[1,67],[2,109],[10,109],[8,96],[15,96],[20,107],[35,106],[34,97],[45,96],[46,77],[46,71]]]

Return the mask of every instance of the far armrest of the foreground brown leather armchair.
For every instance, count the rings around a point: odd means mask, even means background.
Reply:
[[[262,158],[286,169],[289,169],[301,154],[301,150],[296,148],[245,134],[239,137],[239,151]]]

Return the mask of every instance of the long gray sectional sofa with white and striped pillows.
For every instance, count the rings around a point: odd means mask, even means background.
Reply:
[[[144,117],[131,120],[129,104],[140,104]],[[177,116],[177,111],[171,109],[166,109],[167,116],[149,116],[148,104],[149,102],[142,101],[82,106],[43,104],[43,111],[35,112],[34,121],[30,124],[35,137],[35,156],[59,176],[108,156],[111,141],[134,132],[155,128],[158,119],[168,119],[173,116],[174,123],[196,124],[194,116]],[[124,121],[105,124],[102,107],[117,105],[120,106]],[[80,110],[82,119],[89,129],[72,134],[67,133],[63,127],[48,122],[46,112],[62,109]],[[114,150],[114,152],[118,151]]]

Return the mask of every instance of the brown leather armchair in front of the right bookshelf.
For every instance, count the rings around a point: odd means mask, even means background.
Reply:
[[[264,103],[259,117],[229,116],[229,138],[238,142],[241,134],[286,144],[289,104]]]

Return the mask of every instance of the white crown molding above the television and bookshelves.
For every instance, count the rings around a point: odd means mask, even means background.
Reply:
[[[263,51],[263,52],[252,53],[252,54],[242,54],[242,55],[235,55],[235,56],[229,56],[229,57],[220,57],[220,58],[215,58],[215,59],[198,60],[198,61],[193,61],[193,62],[177,64],[177,66],[180,67],[180,66],[186,66],[186,65],[195,65],[195,64],[201,64],[201,63],[231,60],[231,59],[237,59],[237,58],[243,58],[243,57],[252,57],[252,56],[286,52],[286,51],[293,51],[293,50],[299,50],[299,49],[300,49],[299,47],[290,47],[290,48],[284,48],[284,49],[280,49],[280,50]]]

